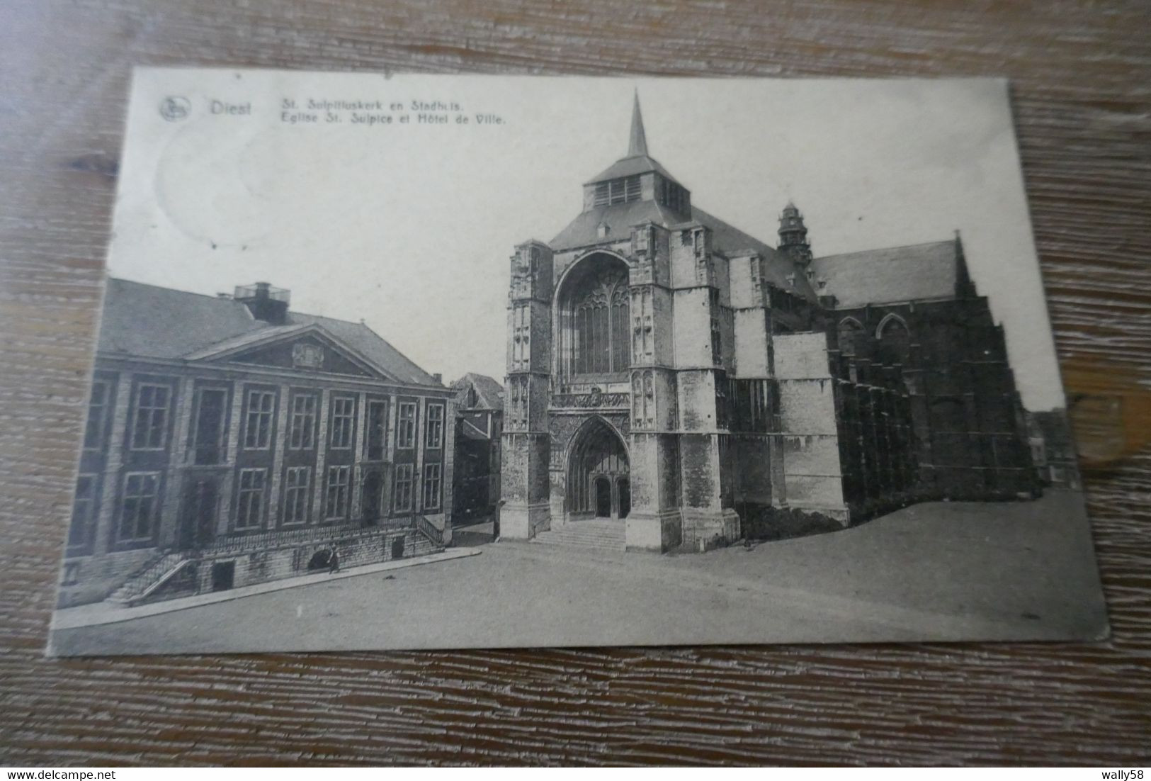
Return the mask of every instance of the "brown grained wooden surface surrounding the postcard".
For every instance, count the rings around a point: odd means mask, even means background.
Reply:
[[[0,764],[1146,764],[1149,23],[1145,0],[0,5]],[[1012,77],[1112,639],[43,659],[137,63]]]

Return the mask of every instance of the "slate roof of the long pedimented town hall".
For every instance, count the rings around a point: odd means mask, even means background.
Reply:
[[[290,335],[318,324],[383,373],[403,382],[440,385],[426,371],[361,323],[288,312],[284,325],[257,320],[233,298],[185,293],[109,279],[97,349],[144,358],[185,361],[208,348],[242,346],[270,335]]]

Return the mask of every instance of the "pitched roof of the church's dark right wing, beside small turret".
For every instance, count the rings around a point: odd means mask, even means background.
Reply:
[[[961,273],[954,241],[829,255],[811,268],[839,308],[951,297]]]

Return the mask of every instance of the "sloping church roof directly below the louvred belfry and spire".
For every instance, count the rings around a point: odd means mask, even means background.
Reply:
[[[577,247],[619,241],[620,237],[631,234],[633,225],[647,220],[665,228],[691,222],[704,225],[711,228],[711,247],[715,251],[727,257],[742,250],[755,252],[764,260],[763,274],[767,281],[780,290],[806,296],[813,301],[816,297],[805,275],[795,271],[794,264],[784,253],[695,205],[692,206],[689,220],[655,200],[596,206],[579,214],[549,242],[549,245],[552,250],[562,252]],[[609,228],[604,238],[599,234],[601,222],[607,223]],[[788,276],[792,279],[787,279]]]

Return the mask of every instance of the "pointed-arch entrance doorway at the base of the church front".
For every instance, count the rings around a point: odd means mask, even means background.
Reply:
[[[572,521],[626,518],[631,510],[627,449],[600,418],[585,424],[572,440],[566,509]]]

